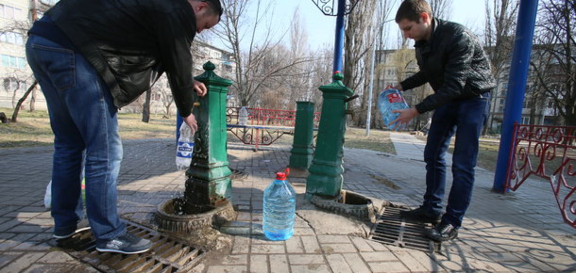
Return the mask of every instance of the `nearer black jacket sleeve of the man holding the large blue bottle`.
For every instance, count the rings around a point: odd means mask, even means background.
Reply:
[[[415,106],[418,113],[434,110],[460,97],[464,90],[474,54],[471,37],[468,33],[462,32],[453,36],[449,45],[451,48],[447,48],[446,51],[448,59],[444,68],[442,86]]]

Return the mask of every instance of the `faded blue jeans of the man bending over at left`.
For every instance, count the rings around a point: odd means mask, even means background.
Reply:
[[[124,232],[116,208],[122,160],[118,109],[108,87],[81,54],[32,35],[26,57],[40,83],[54,132],[52,217],[55,230],[79,221],[82,152],[85,151],[86,213],[97,240]]]

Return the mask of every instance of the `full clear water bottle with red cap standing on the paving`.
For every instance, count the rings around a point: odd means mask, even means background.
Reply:
[[[276,179],[264,190],[262,229],[268,240],[283,241],[294,234],[296,193],[286,180],[289,171],[276,172]]]

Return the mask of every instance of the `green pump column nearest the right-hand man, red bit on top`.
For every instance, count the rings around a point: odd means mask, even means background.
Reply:
[[[310,175],[306,180],[306,197],[323,195],[336,197],[342,190],[342,157],[346,132],[347,100],[354,91],[344,86],[344,77],[336,72],[331,84],[320,86],[323,93],[322,113],[316,140],[316,151]]]

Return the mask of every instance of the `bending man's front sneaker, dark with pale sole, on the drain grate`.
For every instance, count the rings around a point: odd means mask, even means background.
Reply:
[[[96,243],[96,250],[100,252],[117,252],[124,254],[138,254],[149,251],[152,247],[150,240],[142,239],[128,232],[122,233],[116,239]]]

